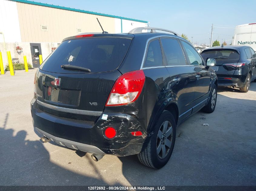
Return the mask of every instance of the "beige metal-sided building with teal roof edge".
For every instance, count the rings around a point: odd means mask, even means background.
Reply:
[[[40,14],[39,14],[40,13]],[[6,51],[12,59],[23,62],[27,56],[33,67],[58,47],[65,37],[85,32],[127,33],[147,21],[101,14],[80,9],[49,5],[26,0],[0,0],[0,51],[7,64]],[[22,50],[16,50],[17,47]]]

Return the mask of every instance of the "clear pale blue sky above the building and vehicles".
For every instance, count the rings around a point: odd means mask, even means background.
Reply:
[[[186,34],[193,43],[213,40],[231,43],[234,27],[256,23],[256,0],[34,0],[35,2],[78,8],[150,22],[150,27]],[[193,37],[193,38],[192,38]]]

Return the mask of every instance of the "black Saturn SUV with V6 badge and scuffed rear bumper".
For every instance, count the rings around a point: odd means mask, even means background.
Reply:
[[[151,32],[141,33],[144,29]],[[216,106],[217,76],[177,33],[139,27],[122,34],[80,34],[63,40],[35,74],[31,112],[35,129],[69,148],[138,154],[163,167],[176,126]]]

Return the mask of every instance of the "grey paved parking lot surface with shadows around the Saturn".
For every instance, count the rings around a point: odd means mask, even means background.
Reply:
[[[137,156],[95,162],[91,154],[39,142],[30,112],[34,75],[0,76],[0,185],[256,185],[255,82],[248,93],[218,88],[214,113],[182,123],[170,161],[155,170]]]

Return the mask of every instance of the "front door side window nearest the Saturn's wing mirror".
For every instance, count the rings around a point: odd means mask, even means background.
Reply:
[[[203,60],[201,59],[198,52],[190,46],[188,43],[181,41],[182,45],[184,46],[184,49],[188,55],[188,59],[191,65],[204,65]]]

